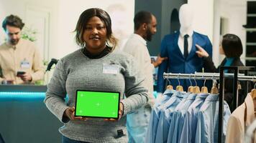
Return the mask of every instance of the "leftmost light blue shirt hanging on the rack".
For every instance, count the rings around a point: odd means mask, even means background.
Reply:
[[[159,98],[156,100],[155,105],[152,109],[151,116],[150,116],[150,124],[147,129],[147,137],[146,137],[146,142],[148,143],[153,143],[155,142],[155,136],[157,132],[157,125],[158,121],[160,118],[160,109],[161,109],[161,104],[165,104],[165,102],[168,102],[170,97],[175,93],[175,90],[165,90],[163,93],[163,97]]]

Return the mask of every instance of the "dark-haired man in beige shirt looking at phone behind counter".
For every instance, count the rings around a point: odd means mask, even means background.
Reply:
[[[42,59],[35,44],[21,39],[23,26],[22,19],[14,15],[6,16],[2,23],[6,42],[0,45],[1,84],[29,84],[44,77]]]

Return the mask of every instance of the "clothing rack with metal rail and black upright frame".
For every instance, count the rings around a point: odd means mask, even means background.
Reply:
[[[233,70],[234,74],[224,73],[225,69]],[[195,72],[195,74],[173,74],[173,73],[163,73],[164,79],[211,79],[211,80],[219,80],[219,132],[218,132],[218,142],[222,142],[222,132],[223,132],[223,109],[224,109],[224,79],[234,79],[233,84],[233,93],[234,99],[236,99],[237,107],[238,104],[238,80],[239,81],[251,81],[256,82],[256,76],[248,76],[248,71],[254,70],[256,67],[254,66],[220,66],[220,73],[202,73]],[[244,71],[244,74],[239,74],[239,71]],[[248,87],[248,83],[247,83]],[[247,88],[246,87],[246,88]],[[247,89],[245,90],[247,91]]]

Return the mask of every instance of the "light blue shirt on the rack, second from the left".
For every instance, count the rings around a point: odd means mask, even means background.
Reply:
[[[172,119],[172,115],[175,107],[182,101],[182,99],[186,98],[188,94],[186,92],[176,92],[173,94],[168,102],[163,104],[160,114],[160,119],[157,127],[157,134],[155,137],[155,142],[166,142],[168,139],[168,130],[170,127],[170,121]]]

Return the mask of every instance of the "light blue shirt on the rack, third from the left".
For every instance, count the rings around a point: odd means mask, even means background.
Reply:
[[[175,108],[173,119],[170,122],[167,142],[180,142],[180,135],[183,129],[186,111],[195,99],[196,94],[189,93],[188,98],[185,99],[185,102],[180,102],[180,104],[178,104],[178,106]]]

